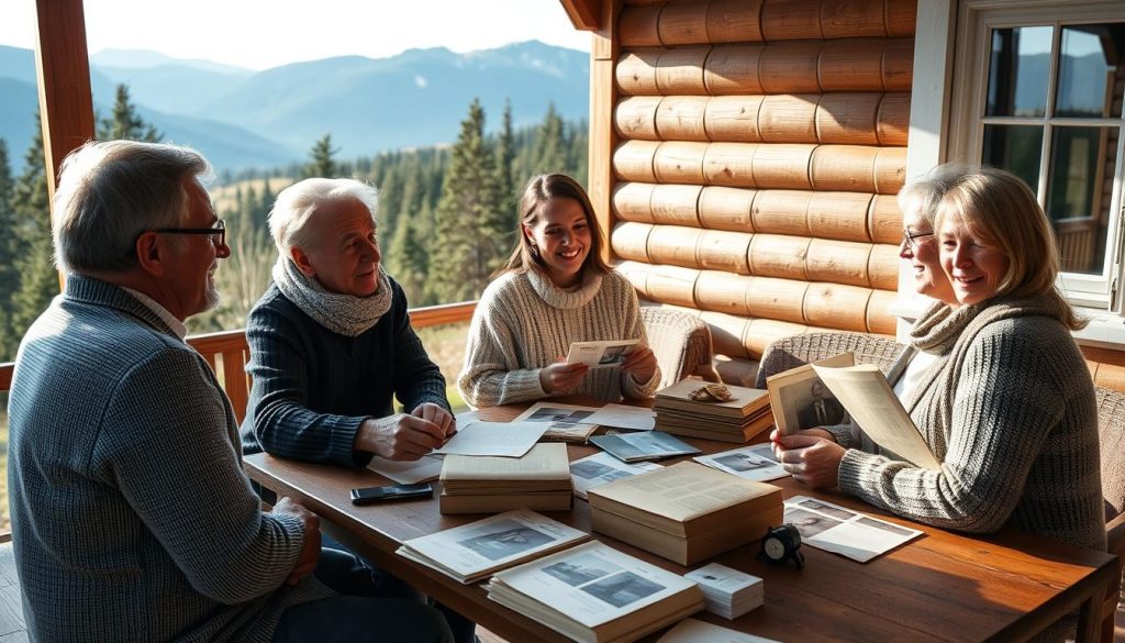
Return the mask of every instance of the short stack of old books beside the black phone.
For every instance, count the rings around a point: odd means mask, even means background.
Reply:
[[[538,444],[522,457],[448,455],[441,484],[442,513],[568,511],[574,493],[561,443]]]

